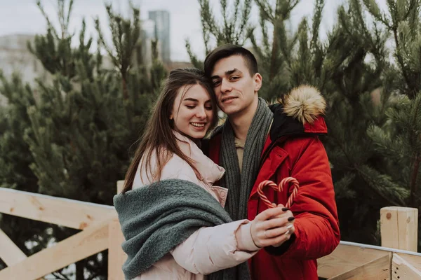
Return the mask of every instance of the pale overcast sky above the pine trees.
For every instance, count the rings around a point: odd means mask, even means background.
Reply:
[[[68,0],[67,0],[68,1]],[[274,0],[269,0],[274,1]],[[321,35],[326,34],[333,25],[338,3],[342,0],[326,0]],[[128,0],[108,0],[114,9],[123,15],[128,15]],[[185,38],[192,42],[193,51],[203,58],[204,46],[201,37],[201,24],[199,17],[199,3],[197,0],[132,0],[140,6],[141,18],[147,19],[149,10],[168,10],[171,17],[171,59],[174,61],[187,61]],[[210,0],[211,6],[218,15],[220,0]],[[385,2],[385,0],[377,0]],[[42,0],[44,8],[51,20],[56,22],[55,7],[57,0]],[[81,19],[86,18],[88,34],[95,34],[93,18],[100,18],[103,31],[107,31],[107,15],[104,6],[105,0],[74,0],[74,9],[71,20],[71,30],[79,31]],[[228,3],[234,3],[228,0]],[[298,25],[303,16],[311,17],[314,9],[314,0],[301,0],[293,10],[293,25]],[[253,7],[252,22],[258,22],[258,9]],[[36,0],[0,0],[0,36],[7,34],[40,34],[46,31],[46,21],[36,6]]]

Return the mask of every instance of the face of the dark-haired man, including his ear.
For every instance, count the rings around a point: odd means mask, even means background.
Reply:
[[[258,100],[262,76],[259,73],[250,76],[241,55],[220,59],[213,67],[211,78],[218,106],[228,116],[248,111]]]

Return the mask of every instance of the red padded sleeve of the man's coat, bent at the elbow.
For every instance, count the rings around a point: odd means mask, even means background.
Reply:
[[[319,137],[293,141],[293,145],[301,146],[298,155],[290,157],[295,160],[290,163],[290,176],[300,183],[290,207],[295,216],[295,235],[283,246],[268,247],[267,251],[283,258],[321,258],[331,253],[340,241],[328,156]]]

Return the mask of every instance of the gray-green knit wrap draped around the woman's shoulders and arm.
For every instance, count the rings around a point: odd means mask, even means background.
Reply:
[[[206,190],[178,179],[115,195],[114,207],[126,239],[122,244],[128,255],[123,265],[126,279],[145,272],[199,228],[232,221]],[[214,272],[208,279],[234,280],[234,269]],[[243,262],[237,269],[248,272],[247,263]]]

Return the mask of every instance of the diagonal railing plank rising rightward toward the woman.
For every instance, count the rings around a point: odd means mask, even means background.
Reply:
[[[108,248],[109,221],[93,225],[22,262],[0,270],[0,280],[38,279]]]

